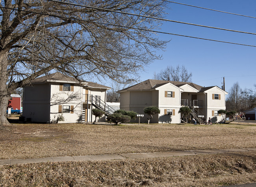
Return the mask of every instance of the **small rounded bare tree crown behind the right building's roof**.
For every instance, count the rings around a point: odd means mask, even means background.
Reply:
[[[167,66],[156,75],[159,80],[170,80],[178,82],[191,82],[192,73],[189,73],[184,65],[180,67],[177,65],[176,68],[173,66]]]

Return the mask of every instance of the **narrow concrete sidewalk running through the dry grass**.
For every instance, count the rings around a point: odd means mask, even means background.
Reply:
[[[29,158],[29,159],[13,159],[0,160],[0,165],[24,164],[24,163],[40,163],[40,162],[68,162],[68,161],[97,161],[97,160],[125,160],[134,158],[155,158],[170,156],[186,156],[198,154],[216,154],[228,152],[246,152],[256,151],[256,148],[246,149],[213,149],[213,150],[191,150],[191,151],[168,151],[155,153],[126,153],[126,154],[103,154],[103,155],[86,155],[86,156],[58,156],[48,158]]]

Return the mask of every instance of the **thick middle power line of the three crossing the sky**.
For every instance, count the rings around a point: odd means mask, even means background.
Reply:
[[[244,32],[244,31],[236,31],[236,30],[232,30],[232,29],[224,29],[224,28],[211,27],[211,26],[206,26],[206,25],[191,24],[191,23],[187,23],[187,22],[179,22],[179,21],[175,21],[175,20],[168,20],[168,19],[164,19],[164,18],[157,18],[157,17],[152,17],[152,16],[138,15],[138,14],[133,14],[133,13],[109,10],[109,9],[92,7],[92,6],[87,6],[87,5],[80,5],[80,4],[74,4],[74,3],[69,3],[69,2],[60,2],[60,1],[57,1],[57,0],[47,0],[47,1],[57,2],[57,3],[61,3],[61,4],[75,5],[75,6],[91,8],[91,9],[97,9],[97,10],[103,10],[103,11],[108,11],[108,12],[121,13],[121,14],[132,15],[132,16],[140,16],[140,17],[144,17],[144,18],[162,20],[162,21],[167,21],[167,22],[174,22],[174,23],[179,23],[179,24],[187,24],[187,25],[194,25],[194,26],[199,26],[199,27],[206,27],[206,28],[210,28],[210,29],[219,29],[219,30],[224,30],[224,31],[231,31],[231,32],[237,32],[237,33],[245,33],[245,34],[254,34],[254,35],[256,35],[256,33],[249,33],[249,32]]]

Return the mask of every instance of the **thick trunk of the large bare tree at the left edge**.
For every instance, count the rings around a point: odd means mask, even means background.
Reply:
[[[10,123],[6,118],[6,109],[8,106],[9,96],[6,82],[8,80],[7,76],[7,60],[8,51],[2,50],[0,51],[0,130],[7,130],[8,128],[5,125],[9,125]]]

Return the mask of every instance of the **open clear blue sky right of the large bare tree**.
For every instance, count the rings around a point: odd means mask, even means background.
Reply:
[[[255,0],[176,0],[174,2],[256,17]],[[256,33],[255,18],[219,13],[174,3],[168,5],[166,19],[169,20]],[[256,45],[256,35],[173,22],[163,22],[160,31]],[[160,72],[167,65],[176,67],[179,64],[184,65],[192,73],[192,82],[201,86],[217,85],[221,87],[223,77],[225,77],[226,91],[235,82],[238,82],[243,89],[253,88],[256,84],[256,47],[224,44],[169,34],[158,35],[163,40],[171,41],[167,44],[165,51],[158,51],[158,54],[162,55],[162,60],[148,65],[145,71],[141,73],[141,81],[152,79],[154,72]]]

